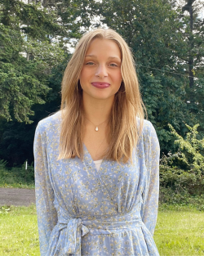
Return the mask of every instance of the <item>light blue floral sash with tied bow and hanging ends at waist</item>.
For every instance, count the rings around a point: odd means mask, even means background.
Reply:
[[[92,220],[90,218],[84,220],[82,220],[82,218],[67,219],[61,215],[57,225],[51,233],[47,256],[55,256],[58,255],[59,252],[60,255],[63,256],[81,256],[81,240],[82,236],[85,236],[86,234],[105,235],[143,226],[144,222],[142,222],[141,218],[134,218],[134,214],[132,213],[114,217],[93,217]],[[66,229],[64,237],[65,241],[63,243],[63,254],[61,254],[61,248],[59,249],[57,245],[60,239],[60,231],[64,231],[64,229]]]

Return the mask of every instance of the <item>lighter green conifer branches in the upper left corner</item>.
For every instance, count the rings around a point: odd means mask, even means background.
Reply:
[[[47,38],[60,27],[36,5],[0,1],[0,7],[0,116],[31,123],[31,107],[45,103],[51,68],[63,60],[64,52]]]

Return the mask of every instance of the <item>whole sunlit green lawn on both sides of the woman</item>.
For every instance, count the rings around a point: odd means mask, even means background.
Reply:
[[[154,240],[161,256],[204,255],[204,213],[160,208]],[[35,206],[0,208],[0,255],[39,256]]]

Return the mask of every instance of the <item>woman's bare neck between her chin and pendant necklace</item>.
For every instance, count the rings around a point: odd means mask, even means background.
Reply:
[[[109,97],[108,99],[95,99],[83,93],[82,98],[83,109],[87,119],[96,125],[109,119],[114,97]]]

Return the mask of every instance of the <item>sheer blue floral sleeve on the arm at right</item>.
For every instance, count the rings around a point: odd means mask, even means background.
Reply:
[[[141,217],[144,224],[153,235],[157,222],[160,146],[153,124],[150,122],[147,123],[147,127],[144,128],[144,156],[147,178],[143,191]]]

